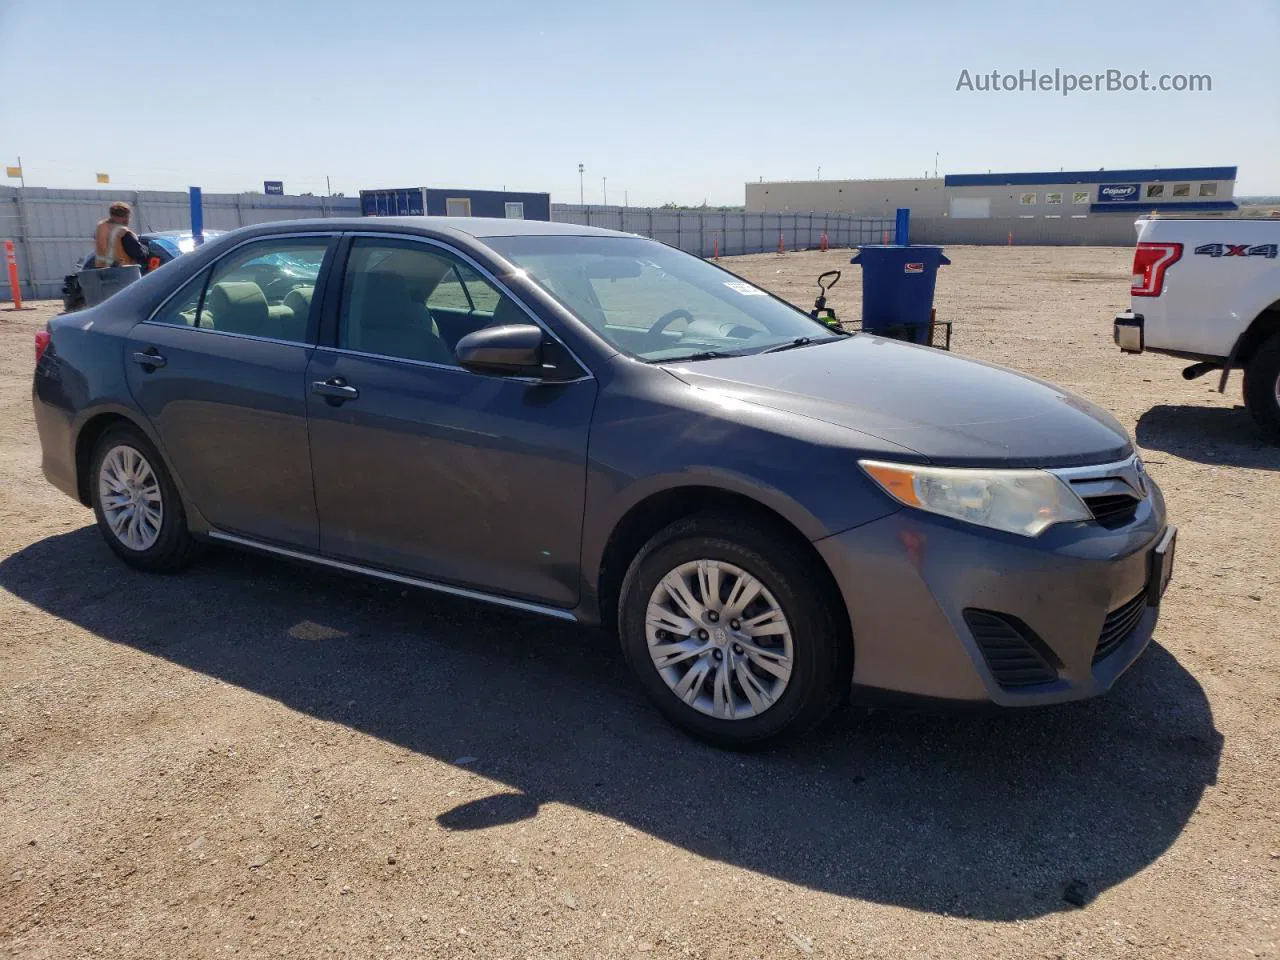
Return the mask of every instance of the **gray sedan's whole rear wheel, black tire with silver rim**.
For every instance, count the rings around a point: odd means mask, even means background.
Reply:
[[[192,561],[197,544],[182,498],[137,428],[109,428],[93,447],[90,471],[93,516],[116,557],[148,573],[172,573]]]

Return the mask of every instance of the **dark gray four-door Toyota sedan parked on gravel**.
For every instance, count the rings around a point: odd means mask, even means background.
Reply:
[[[45,475],[124,562],[216,543],[603,623],[728,746],[851,685],[1100,694],[1172,570],[1098,407],[609,230],[262,224],[36,340]]]

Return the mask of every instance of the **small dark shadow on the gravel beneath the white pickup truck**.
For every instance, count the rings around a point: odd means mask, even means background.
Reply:
[[[1262,439],[1244,407],[1158,404],[1138,417],[1138,444],[1213,466],[1280,470],[1280,447]]]

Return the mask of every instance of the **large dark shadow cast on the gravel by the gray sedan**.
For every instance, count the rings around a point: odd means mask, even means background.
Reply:
[[[851,707],[799,746],[741,755],[666,726],[600,634],[461,600],[220,552],[151,577],[92,527],[4,559],[0,585],[507,785],[440,813],[447,829],[572,804],[790,883],[937,914],[1039,916],[1132,877],[1178,838],[1221,751],[1204,691],[1158,645],[1089,703]]]

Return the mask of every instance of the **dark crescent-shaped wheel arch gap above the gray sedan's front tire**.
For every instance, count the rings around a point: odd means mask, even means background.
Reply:
[[[600,623],[605,630],[612,632],[617,627],[622,581],[640,548],[671,524],[712,511],[741,516],[744,524],[768,529],[773,535],[794,544],[812,562],[819,590],[833,604],[836,623],[845,634],[845,640],[852,643],[852,625],[844,594],[813,540],[773,507],[744,493],[705,484],[672,486],[650,493],[632,504],[613,525],[595,577],[595,599]]]

